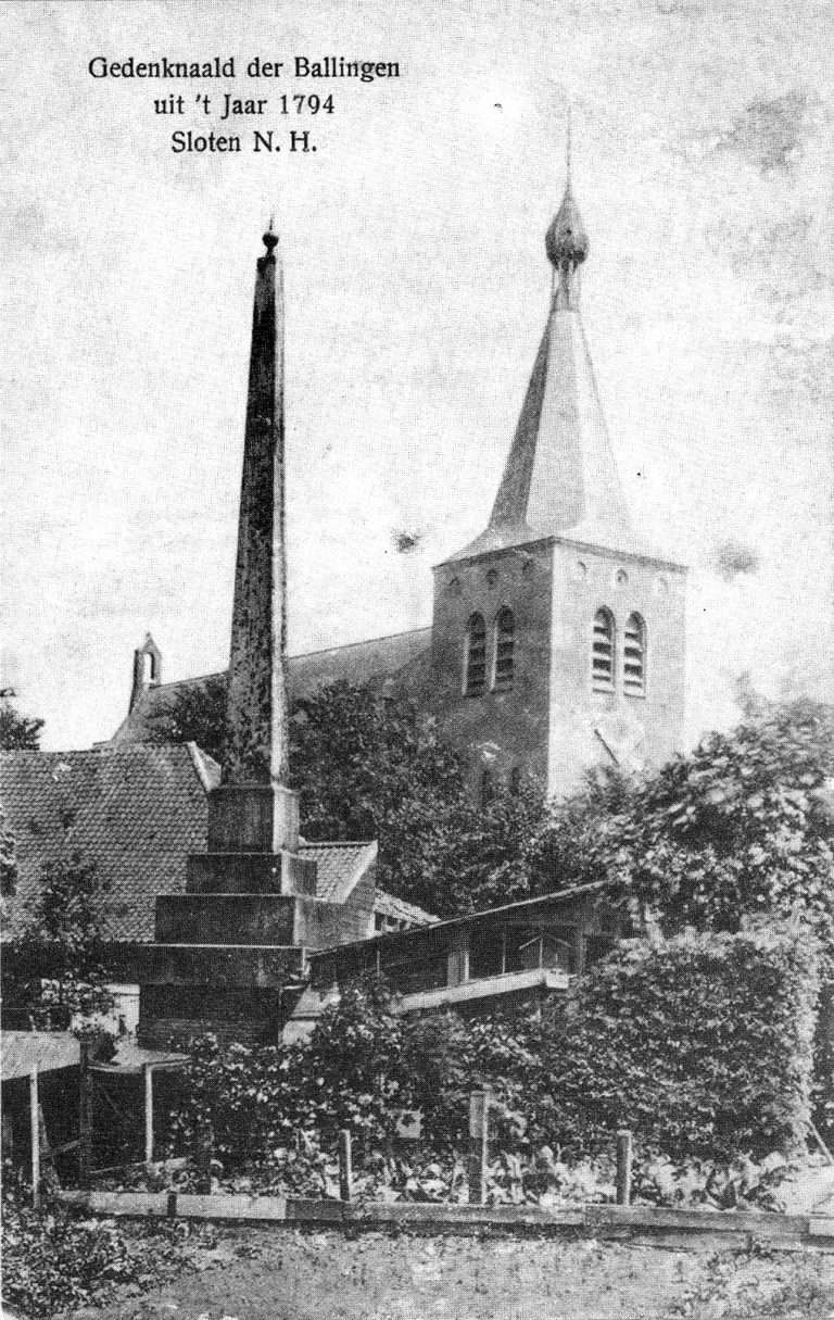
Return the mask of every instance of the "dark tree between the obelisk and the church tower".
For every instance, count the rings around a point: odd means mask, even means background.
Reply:
[[[310,838],[379,838],[379,883],[441,916],[529,892],[530,784],[478,804],[462,758],[404,697],[335,682],[300,702],[290,770]]]

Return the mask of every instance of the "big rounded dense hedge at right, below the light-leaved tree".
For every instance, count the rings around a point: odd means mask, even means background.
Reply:
[[[678,1160],[797,1152],[817,994],[802,928],[622,945],[575,982],[542,1038],[554,1135],[596,1151],[629,1127]]]

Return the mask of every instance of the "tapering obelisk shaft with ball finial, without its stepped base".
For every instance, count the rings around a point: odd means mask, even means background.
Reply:
[[[264,247],[255,280],[223,783],[286,787],[284,276],[272,223]]]

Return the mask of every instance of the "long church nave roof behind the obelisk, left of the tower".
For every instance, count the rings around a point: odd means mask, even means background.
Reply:
[[[290,701],[307,697],[317,688],[338,678],[360,685],[384,684],[401,676],[402,686],[410,692],[424,681],[421,660],[430,645],[432,628],[416,628],[412,632],[395,632],[388,638],[372,638],[327,651],[289,656],[286,665]],[[112,743],[141,742],[148,734],[149,719],[164,715],[183,692],[195,690],[219,677],[220,675],[210,673],[148,688],[113,734]]]

